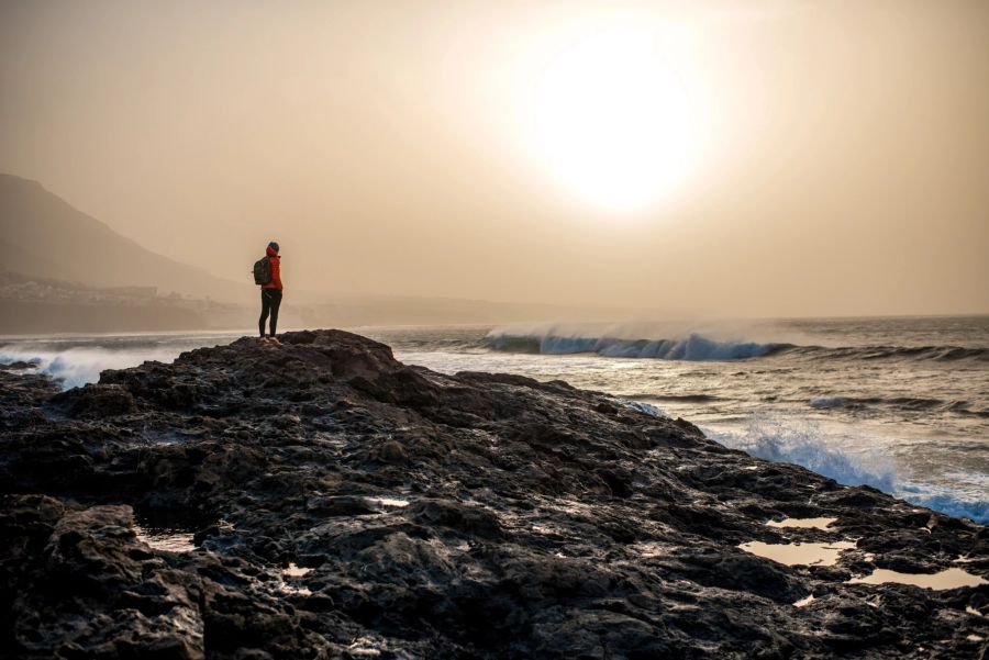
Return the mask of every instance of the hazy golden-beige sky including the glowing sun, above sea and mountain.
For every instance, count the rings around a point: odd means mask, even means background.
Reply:
[[[231,278],[989,312],[989,2],[0,3],[0,171]]]

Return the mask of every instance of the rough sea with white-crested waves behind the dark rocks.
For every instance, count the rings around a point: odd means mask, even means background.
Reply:
[[[989,316],[348,328],[407,363],[607,392],[712,439],[989,523]],[[66,388],[242,333],[0,338]]]

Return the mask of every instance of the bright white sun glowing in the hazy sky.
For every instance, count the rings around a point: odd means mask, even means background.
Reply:
[[[536,156],[573,193],[641,209],[684,177],[694,150],[690,99],[656,33],[610,30],[552,58],[536,85]]]

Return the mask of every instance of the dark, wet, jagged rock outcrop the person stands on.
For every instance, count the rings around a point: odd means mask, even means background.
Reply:
[[[986,527],[563,382],[443,376],[320,331],[65,393],[0,371],[0,400],[15,657],[985,653],[986,584],[846,581],[959,557],[989,575]],[[164,513],[195,550],[136,534]],[[837,522],[765,525],[784,516]],[[851,539],[830,567],[737,547]]]

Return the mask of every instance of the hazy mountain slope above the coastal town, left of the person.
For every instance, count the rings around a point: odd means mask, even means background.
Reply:
[[[93,287],[157,287],[197,298],[253,300],[254,287],[174,261],[74,209],[37,181],[0,175],[0,259],[5,270]]]

